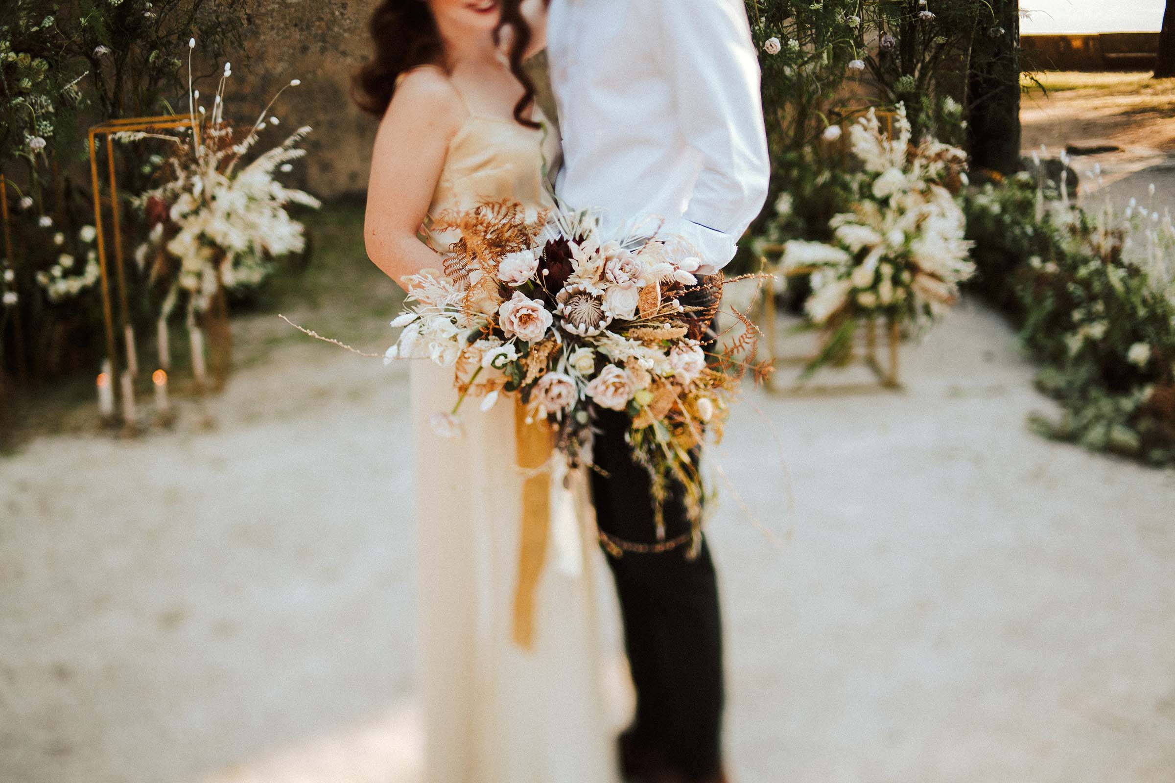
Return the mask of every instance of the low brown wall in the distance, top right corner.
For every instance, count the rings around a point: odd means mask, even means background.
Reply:
[[[1025,65],[1038,70],[1150,70],[1159,33],[1023,35]]]

